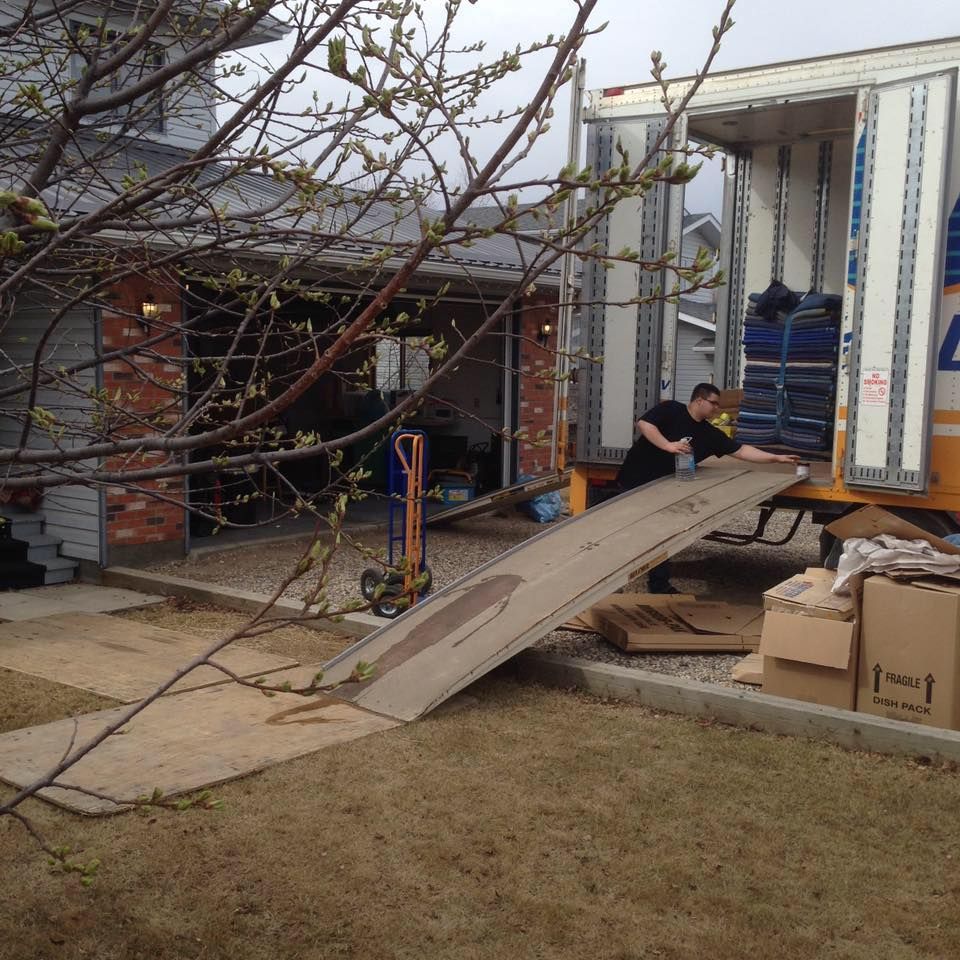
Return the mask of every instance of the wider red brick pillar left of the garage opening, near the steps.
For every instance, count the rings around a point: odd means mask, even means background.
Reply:
[[[148,336],[137,316],[141,304],[152,298],[160,305],[161,313],[156,326],[148,328],[149,334],[166,324],[180,322],[180,291],[174,279],[150,282],[143,279],[126,281],[122,287],[115,288],[113,303],[115,311],[104,311],[102,315],[103,351],[110,353],[122,346],[138,343]],[[131,436],[148,433],[151,426],[138,424],[136,416],[149,417],[154,427],[161,426],[159,418],[172,421],[179,415],[173,409],[179,400],[164,382],[170,382],[182,374],[179,364],[165,360],[180,356],[179,335],[151,347],[159,357],[138,357],[135,364],[123,360],[111,360],[104,364],[103,385],[110,400],[121,393],[120,403],[112,415],[122,424],[120,430]],[[126,414],[126,416],[125,416]],[[136,469],[150,463],[166,462],[165,455],[149,456],[141,459],[114,459],[108,466],[113,469]],[[143,490],[156,490],[174,500],[182,499],[181,480],[156,481],[139,485]],[[106,526],[108,562],[116,563],[119,558],[130,556],[134,552],[149,556],[151,551],[159,555],[179,552],[184,544],[185,511],[176,503],[169,503],[151,497],[140,490],[129,490],[122,486],[107,488]],[[128,549],[130,548],[130,549]],[[141,548],[134,551],[132,548]],[[171,549],[172,548],[172,549]]]

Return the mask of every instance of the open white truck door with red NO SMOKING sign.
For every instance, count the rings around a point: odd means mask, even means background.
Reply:
[[[866,97],[848,300],[850,487],[927,492],[956,83],[949,70]]]

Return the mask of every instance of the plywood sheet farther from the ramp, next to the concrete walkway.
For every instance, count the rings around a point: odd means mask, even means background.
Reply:
[[[100,613],[60,613],[0,624],[0,667],[121,703],[142,700],[209,646],[209,640]],[[236,644],[214,659],[240,677],[258,677],[297,663]],[[198,667],[170,692],[228,681],[213,667]]]

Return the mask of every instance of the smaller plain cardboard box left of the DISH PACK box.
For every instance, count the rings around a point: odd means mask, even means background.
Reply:
[[[760,638],[763,692],[853,710],[857,699],[857,624],[767,612]]]

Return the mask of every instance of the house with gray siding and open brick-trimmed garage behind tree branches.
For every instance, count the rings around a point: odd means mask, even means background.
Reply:
[[[129,11],[139,7],[129,6]],[[131,13],[120,4],[111,7],[116,24],[108,23],[104,37],[118,36],[129,27]],[[78,24],[96,29],[96,9],[78,6],[70,30]],[[89,11],[89,12],[85,12]],[[5,16],[12,16],[12,13]],[[57,29],[63,29],[63,25]],[[268,23],[248,34],[234,46],[256,45],[276,39],[282,28]],[[82,35],[83,31],[80,30]],[[62,37],[62,34],[60,34]],[[50,38],[48,38],[50,39]],[[62,75],[75,83],[83,75],[83,62],[77,54],[65,52],[61,58]],[[163,63],[162,51],[148,49],[138,63],[138,76]],[[56,71],[52,71],[56,74]],[[56,74],[60,76],[60,74]],[[132,78],[136,79],[136,77]],[[59,81],[57,81],[59,82]],[[63,91],[61,91],[63,92]],[[69,92],[67,90],[66,92]],[[105,91],[109,95],[110,91]],[[0,88],[0,127],[10,133],[16,124],[34,132],[44,130],[41,121],[24,123],[22,114],[14,115],[9,105],[14,91]],[[82,215],[99,204],[119,196],[131,181],[162,176],[190,157],[196,147],[217,131],[216,104],[202,83],[188,85],[176,103],[163,92],[144,102],[140,113],[110,115],[105,121],[113,130],[117,149],[109,156],[97,153],[104,127],[79,131],[66,145],[73,169],[84,168],[87,156],[96,156],[89,166],[89,179],[83,183],[63,178],[43,194],[51,214],[58,219]],[[32,124],[32,126],[31,126]],[[11,143],[15,141],[10,139]],[[29,150],[14,146],[0,166],[4,183],[0,189],[18,185],[18,174],[31,162]],[[282,207],[284,190],[277,178],[267,172],[244,171],[231,175],[220,189],[216,166],[207,166],[203,176],[205,204],[215,209],[236,204],[238,197],[251,209],[270,211],[270,228],[277,233],[302,226],[297,214]],[[210,185],[212,184],[212,185]],[[168,191],[164,212],[188,216],[194,202],[186,191]],[[336,217],[343,215],[350,198],[343,192],[330,204],[330,221],[321,227],[339,227]],[[332,298],[347,300],[349,309],[359,309],[376,297],[387,282],[399,258],[385,257],[378,270],[362,269],[369,244],[386,240],[397,245],[414,243],[420,237],[420,215],[425,211],[404,209],[397,215],[395,204],[374,202],[358,210],[353,219],[353,236],[361,238],[355,248],[339,243],[323,256],[305,264],[302,276],[329,292]],[[214,267],[224,272],[256,264],[267,270],[289,254],[282,242],[274,242],[264,230],[251,229],[230,249],[230,257],[216,264],[201,262],[196,267],[178,263],[174,268],[157,266],[124,276],[123,244],[131,242],[122,229],[111,228],[118,250],[116,275],[119,279],[93,302],[73,303],[66,288],[50,285],[21,289],[0,332],[0,447],[16,448],[25,429],[32,431],[30,444],[42,448],[55,444],[84,447],[98,434],[98,424],[106,416],[127,416],[121,429],[135,432],[146,417],[170,414],[172,387],[165,386],[183,377],[186,402],[191,402],[208,387],[214,365],[211,358],[224,357],[226,338],[236,333],[229,297],[209,279]],[[334,233],[334,230],[330,230]],[[142,236],[142,234],[140,235]],[[139,242],[139,240],[138,240]],[[181,237],[157,232],[148,237],[149,247],[162,261],[163,254],[176,251]],[[402,396],[415,388],[424,370],[417,341],[427,335],[440,335],[456,344],[468,337],[505,298],[514,301],[518,282],[524,275],[529,251],[506,237],[478,238],[469,248],[453,247],[431,255],[398,297],[392,302],[391,315],[408,312],[415,319],[401,331],[391,345],[379,347],[380,361],[372,373],[358,379],[357,370],[366,369],[366,354],[344,358],[340,367],[315,389],[297,401],[284,415],[286,423],[277,429],[287,436],[297,431],[321,436],[342,435],[362,425],[364,411],[361,385],[372,386],[389,396]],[[204,277],[208,279],[204,279]],[[108,278],[112,280],[112,277]],[[482,459],[484,482],[497,486],[510,483],[518,473],[537,469],[537,448],[533,443],[507,443],[501,432],[526,431],[535,434],[552,422],[552,384],[542,374],[550,366],[548,348],[555,341],[556,302],[559,276],[548,271],[537,282],[537,292],[516,300],[500,323],[497,333],[483,340],[469,359],[442,383],[430,404],[421,410],[411,426],[422,426],[434,443],[435,457],[446,463],[457,462],[464,454]],[[304,300],[296,291],[282,291],[271,316],[293,328],[298,323],[321,328],[329,322],[330,304]],[[44,340],[51,319],[56,319],[56,336]],[[157,330],[170,329],[184,322],[191,324],[187,336],[154,343]],[[258,321],[259,322],[259,321]],[[266,323],[266,321],[264,321]],[[256,331],[264,336],[266,327]],[[151,339],[153,338],[153,339]],[[131,345],[150,343],[149,353],[135,365],[117,351]],[[30,383],[34,357],[41,351],[44,370],[53,371],[50,383],[39,383],[28,414],[23,388]],[[279,354],[281,351],[277,351]],[[286,367],[277,361],[269,370],[277,382],[304,361],[296,349],[287,352]],[[218,361],[219,362],[219,361]],[[217,376],[229,380],[242,378],[236,361],[225,361]],[[364,380],[363,377],[366,377]],[[372,378],[372,379],[371,379]],[[361,383],[362,381],[362,383]],[[11,391],[19,390],[14,393]],[[121,398],[117,400],[116,398]],[[55,429],[46,433],[38,426],[37,412],[52,417]],[[161,411],[158,414],[157,411]],[[179,415],[179,412],[176,412]],[[188,467],[200,455],[209,458],[208,449],[192,453]],[[349,462],[372,467],[377,479],[376,462],[380,453],[371,453],[369,445],[347,451]],[[0,491],[7,516],[4,532],[7,543],[0,553],[0,586],[50,583],[73,577],[79,566],[95,574],[108,565],[182,555],[189,549],[197,529],[191,529],[184,501],[217,512],[233,499],[231,484],[238,487],[237,499],[249,482],[249,474],[219,475],[217,471],[190,474],[185,480],[125,482],[123,470],[134,457],[112,461],[87,461],[79,472],[112,471],[120,479],[112,482],[66,482],[42,493],[33,490]],[[147,462],[139,458],[138,462]],[[274,491],[289,479],[292,485],[309,490],[327,479],[324,463],[312,462],[299,472],[291,468],[289,477],[273,478]],[[63,478],[77,479],[71,468],[63,468]],[[202,532],[202,531],[201,531]]]

